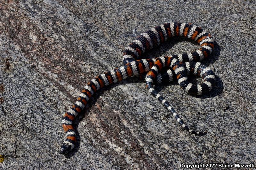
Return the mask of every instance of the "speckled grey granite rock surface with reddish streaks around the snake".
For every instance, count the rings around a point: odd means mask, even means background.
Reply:
[[[145,3],[147,2],[147,3]],[[0,168],[174,169],[180,163],[256,163],[254,1],[1,1]],[[212,34],[215,88],[189,96],[177,83],[158,90],[187,124],[130,78],[102,89],[76,121],[78,144],[60,155],[62,114],[90,79],[122,65],[137,35],[165,22],[192,22]],[[198,45],[171,40],[149,57]]]

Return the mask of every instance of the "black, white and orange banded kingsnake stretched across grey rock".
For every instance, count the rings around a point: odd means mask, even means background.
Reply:
[[[201,47],[192,53],[165,56],[156,59],[136,60],[141,57],[143,53],[160,45],[173,36],[187,37],[196,41]],[[173,75],[175,74],[181,89],[188,94],[201,95],[209,92],[212,90],[212,85],[215,82],[214,73],[211,69],[197,61],[207,58],[213,48],[214,42],[212,36],[201,27],[192,25],[191,23],[166,23],[156,26],[145,33],[141,33],[140,36],[124,50],[124,66],[107,71],[92,79],[83,87],[76,103],[65,113],[62,119],[62,127],[66,133],[66,140],[61,146],[60,153],[66,154],[74,148],[76,143],[76,133],[73,126],[74,119],[84,109],[93,93],[102,87],[120,82],[132,76],[145,78],[148,91],[171,112],[185,130],[192,134],[204,135],[206,132],[197,132],[188,128],[168,101],[154,89],[153,82],[154,80],[156,80],[157,83],[170,82],[173,80]],[[163,70],[164,67],[167,69]],[[200,85],[189,83],[187,74],[201,76],[204,79],[203,83]]]

